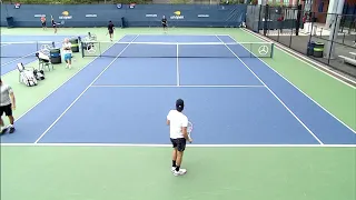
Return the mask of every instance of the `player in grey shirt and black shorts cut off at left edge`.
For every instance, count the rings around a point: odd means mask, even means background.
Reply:
[[[13,90],[10,86],[4,84],[0,79],[0,132],[1,134],[6,133],[10,128],[10,133],[14,132],[14,126],[13,126],[13,116],[12,110],[16,109],[16,101],[14,101],[14,94]],[[9,120],[10,124],[7,128],[3,128],[3,121],[2,121],[2,114],[6,114]]]

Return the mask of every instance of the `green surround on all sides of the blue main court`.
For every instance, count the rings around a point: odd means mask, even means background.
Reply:
[[[20,30],[20,31],[19,31]],[[59,34],[98,36],[106,30],[61,29]],[[117,29],[125,34],[161,34],[158,28]],[[49,36],[51,30],[4,29],[1,34]],[[241,29],[176,28],[168,34],[230,34],[239,42],[260,41]],[[18,109],[14,117],[63,84],[92,61],[75,58],[72,70],[56,66],[46,84],[27,88],[18,72],[2,76],[12,86]],[[356,88],[275,49],[271,68],[314,101],[356,130]],[[29,66],[36,66],[36,62]],[[32,96],[36,93],[36,96]],[[186,151],[185,177],[170,173],[171,148],[119,146],[2,146],[1,200],[354,200],[356,148],[343,147],[194,147]],[[179,191],[180,190],[180,191]]]

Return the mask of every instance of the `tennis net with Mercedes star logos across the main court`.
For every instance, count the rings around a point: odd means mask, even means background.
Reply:
[[[81,42],[82,57],[112,58],[273,58],[274,43]]]

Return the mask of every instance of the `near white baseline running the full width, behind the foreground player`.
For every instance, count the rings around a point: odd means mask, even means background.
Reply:
[[[171,148],[171,144],[149,143],[1,143],[1,147],[151,147]],[[189,148],[356,148],[356,144],[187,144]]]

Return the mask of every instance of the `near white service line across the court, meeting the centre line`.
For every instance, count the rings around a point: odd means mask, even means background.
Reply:
[[[197,86],[189,86],[189,84],[180,84],[180,86],[175,86],[175,84],[167,84],[167,86],[164,86],[164,84],[142,84],[142,86],[135,86],[135,84],[92,84],[90,86],[91,88],[177,88],[177,87],[180,87],[180,88],[265,88],[265,86],[260,84],[260,86],[244,86],[244,84],[240,84],[240,86],[209,86],[209,84],[197,84]]]

